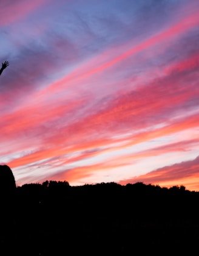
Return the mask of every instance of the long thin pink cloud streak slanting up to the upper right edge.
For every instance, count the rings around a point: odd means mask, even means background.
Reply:
[[[118,51],[121,52],[121,49],[118,50],[118,48],[115,48],[114,51],[114,49],[111,48],[89,60],[86,62],[86,64],[83,64],[75,70],[71,71],[69,74],[67,74],[66,77],[51,84],[49,87],[41,91],[41,94],[50,92],[53,93],[53,91],[61,90],[62,87],[67,87],[67,84],[71,82],[75,84],[82,83],[84,79],[89,78],[93,74],[106,71],[107,68],[110,68],[113,65],[120,63],[129,57],[132,57],[132,55],[135,55],[138,52],[144,51],[145,49],[155,46],[158,43],[163,43],[163,41],[169,40],[170,38],[180,36],[192,27],[197,26],[198,23],[199,18],[197,12],[192,13],[192,15],[183,18],[183,20],[178,21],[172,27],[165,29],[163,32],[159,32],[157,35],[153,35],[151,38],[147,38],[146,41],[139,43],[137,46],[134,46],[128,51],[124,50],[127,48],[127,46],[124,45],[122,49],[125,52],[122,54],[118,54]],[[114,57],[115,55],[116,57]],[[107,60],[107,56],[112,56],[112,60]]]

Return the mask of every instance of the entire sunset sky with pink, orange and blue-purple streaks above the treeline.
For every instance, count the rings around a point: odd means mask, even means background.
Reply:
[[[18,186],[199,191],[198,0],[1,0],[0,164]]]

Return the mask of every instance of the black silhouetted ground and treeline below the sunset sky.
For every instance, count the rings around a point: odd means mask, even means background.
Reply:
[[[1,204],[0,255],[199,255],[199,193],[28,184]]]

